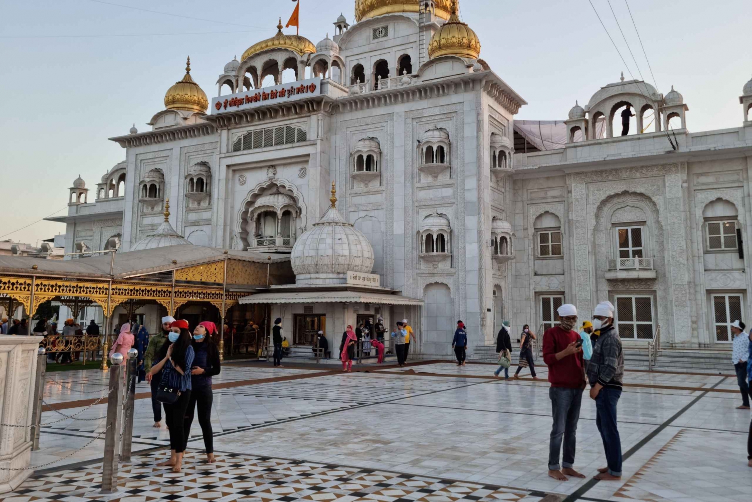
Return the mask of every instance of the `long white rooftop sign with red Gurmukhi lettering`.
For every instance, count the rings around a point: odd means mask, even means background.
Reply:
[[[290,82],[261,89],[251,89],[244,93],[219,96],[211,99],[211,114],[227,111],[246,110],[264,105],[295,101],[318,96],[321,93],[321,78],[308,78],[305,81]]]

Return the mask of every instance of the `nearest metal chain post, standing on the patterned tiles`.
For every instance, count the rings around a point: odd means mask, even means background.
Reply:
[[[105,433],[105,461],[102,464],[102,490],[99,494],[117,491],[117,464],[120,461],[120,412],[123,400],[123,354],[110,358],[110,394],[107,401],[107,432]]]

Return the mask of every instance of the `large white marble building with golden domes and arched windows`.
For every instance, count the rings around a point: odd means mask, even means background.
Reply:
[[[526,128],[455,4],[356,0],[356,23],[338,17],[316,45],[280,24],[223,66],[211,103],[186,72],[150,130],[111,138],[125,160],[92,202],[74,182],[68,215],[50,218],[66,251],[111,236],[132,249],[169,199],[193,244],[290,254],[334,181],[381,286],[423,300],[411,325],[426,356],[451,354],[457,319],[487,345],[504,318],[536,330],[559,303],[587,315],[607,298],[628,344],[660,325],[664,346],[726,347],[752,313],[752,81],[733,129],[690,132],[681,94],[623,79]]]

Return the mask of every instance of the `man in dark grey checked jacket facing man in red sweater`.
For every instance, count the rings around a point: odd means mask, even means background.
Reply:
[[[587,379],[590,382],[590,397],[596,401],[596,425],[608,463],[608,467],[600,468],[595,477],[610,481],[621,479],[621,439],[616,408],[624,376],[624,353],[619,333],[614,329],[614,306],[611,302],[601,302],[593,310],[593,329],[600,330],[601,334],[593,347]]]

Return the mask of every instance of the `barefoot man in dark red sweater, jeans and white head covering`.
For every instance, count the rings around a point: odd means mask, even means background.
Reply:
[[[580,419],[585,373],[582,359],[582,339],[575,330],[577,308],[566,303],[557,309],[559,326],[543,333],[543,361],[548,366],[551,387],[553,428],[548,445],[548,475],[566,481],[566,476],[584,478],[574,469],[577,445],[577,422]],[[564,457],[559,465],[559,453],[564,439]]]

